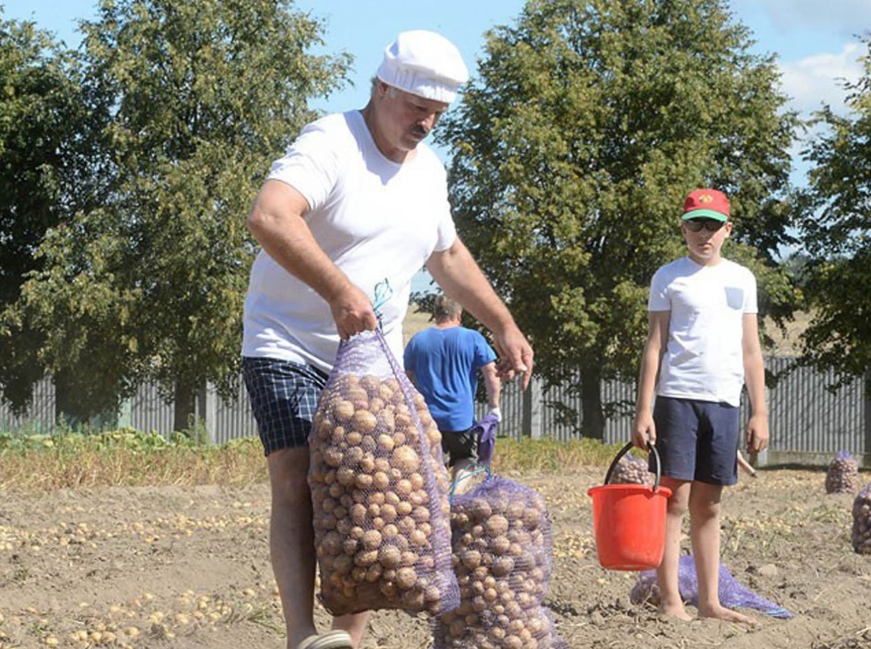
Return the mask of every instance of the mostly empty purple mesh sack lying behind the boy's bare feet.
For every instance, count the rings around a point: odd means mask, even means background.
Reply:
[[[699,579],[696,577],[696,562],[692,554],[685,554],[678,562],[678,590],[680,597],[690,605],[699,605]],[[638,581],[632,587],[629,598],[633,604],[643,602],[659,603],[659,585],[655,570],[638,573]],[[793,614],[780,605],[774,604],[761,595],[751,591],[719,564],[719,603],[727,608],[752,608],[773,618],[789,619]]]

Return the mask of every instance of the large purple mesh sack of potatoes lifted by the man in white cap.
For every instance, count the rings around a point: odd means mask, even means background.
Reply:
[[[459,604],[441,439],[380,332],[341,342],[309,436],[327,611],[436,614]]]

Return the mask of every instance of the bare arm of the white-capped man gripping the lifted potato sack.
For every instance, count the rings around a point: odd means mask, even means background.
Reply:
[[[314,240],[303,218],[307,211],[307,200],[294,187],[267,180],[254,200],[247,226],[273,260],[327,301],[341,338],[374,329],[377,320],[368,296]]]

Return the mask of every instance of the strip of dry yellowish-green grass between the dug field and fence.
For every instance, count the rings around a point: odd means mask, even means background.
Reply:
[[[496,473],[553,473],[583,466],[607,466],[619,447],[582,439],[500,438]],[[197,436],[121,429],[105,433],[13,436],[0,433],[0,491],[42,491],[82,487],[242,486],[268,479],[256,437],[211,445]]]

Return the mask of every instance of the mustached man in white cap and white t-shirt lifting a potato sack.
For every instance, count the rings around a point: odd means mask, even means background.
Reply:
[[[341,338],[376,326],[375,286],[393,294],[383,332],[402,358],[402,320],[422,267],[490,328],[503,379],[532,349],[457,237],[444,166],[422,140],[468,79],[444,37],[402,32],[388,45],[361,111],[307,125],[273,164],[248,226],[263,250],[245,301],[243,374],[272,486],[270,547],[287,649],[359,646],[367,614],[313,621],[314,531],[307,435]]]

